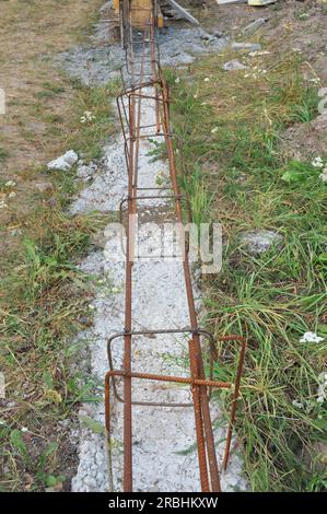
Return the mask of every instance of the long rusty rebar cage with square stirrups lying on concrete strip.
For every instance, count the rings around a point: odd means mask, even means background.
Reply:
[[[227,388],[233,390],[231,416],[227,427],[226,444],[223,459],[223,467],[226,469],[230,456],[232,431],[235,423],[236,406],[240,395],[241,376],[245,357],[246,340],[242,336],[225,336],[219,341],[235,341],[241,344],[237,372],[235,383],[219,382],[213,379],[213,363],[217,360],[217,347],[214,338],[207,330],[198,326],[195,299],[192,291],[191,271],[188,261],[188,246],[183,250],[183,272],[187,294],[189,313],[189,326],[180,328],[155,329],[147,328],[136,330],[132,327],[132,270],[133,270],[133,230],[130,223],[135,214],[138,213],[140,200],[147,198],[157,198],[163,190],[165,197],[170,198],[174,205],[174,215],[178,223],[183,223],[183,195],[178,186],[178,176],[173,145],[173,135],[171,128],[170,104],[171,94],[161,67],[159,48],[155,42],[155,2],[152,2],[148,10],[145,22],[137,27],[132,22],[132,2],[121,1],[121,30],[124,48],[126,52],[126,63],[121,69],[122,91],[117,97],[117,107],[121,130],[124,136],[127,186],[128,195],[120,205],[120,217],[122,207],[127,211],[127,242],[126,242],[126,285],[125,285],[125,327],[121,332],[113,335],[107,341],[107,353],[109,371],[105,378],[105,424],[106,437],[109,453],[109,476],[112,477],[112,451],[110,451],[110,408],[112,394],[116,401],[124,404],[124,491],[132,491],[133,468],[132,468],[132,408],[135,405],[151,407],[189,407],[195,413],[195,430],[198,451],[198,462],[200,471],[200,484],[203,492],[220,492],[220,474],[215,454],[215,443],[213,427],[210,416],[210,397],[212,388]],[[142,125],[142,102],[151,102],[154,106],[155,119],[151,125]],[[165,188],[149,188],[147,195],[140,196],[139,187],[139,152],[142,139],[156,138],[163,141],[167,155],[170,168],[170,186]],[[160,189],[160,191],[154,190]],[[153,194],[154,192],[154,194]],[[153,194],[153,195],[152,195]],[[164,198],[165,198],[164,197]],[[159,284],[160,287],[160,284]],[[148,373],[148,371],[135,372],[131,362],[131,349],[133,338],[141,335],[159,334],[183,334],[188,337],[188,359],[189,376],[167,376]],[[203,357],[202,342],[206,338],[209,341],[209,377],[206,376],[207,367],[206,354]],[[124,342],[124,359],[120,369],[115,369],[113,364],[113,342],[120,340]],[[206,365],[205,365],[206,364]],[[117,379],[122,381],[122,396],[117,390]],[[165,404],[154,399],[153,401],[135,401],[132,399],[132,381],[148,379],[166,383],[179,383],[189,385],[191,388],[192,401],[190,404]],[[110,480],[112,483],[112,480]],[[113,487],[113,486],[112,486]]]

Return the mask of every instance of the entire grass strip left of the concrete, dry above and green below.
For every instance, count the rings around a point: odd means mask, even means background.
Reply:
[[[59,17],[62,0],[2,3],[1,86],[13,95],[5,114],[11,130],[0,141],[0,490],[69,490],[75,406],[94,400],[80,365],[87,341],[74,338],[91,323],[91,278],[78,262],[105,218],[70,215],[75,168],[48,172],[46,163],[70,149],[85,163],[101,156],[115,130],[109,102],[117,84],[86,87],[54,66],[55,55],[85,43],[98,0],[91,8],[72,0]],[[92,116],[82,124],[85,110]]]

